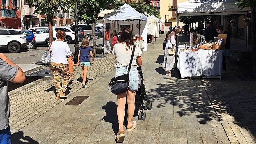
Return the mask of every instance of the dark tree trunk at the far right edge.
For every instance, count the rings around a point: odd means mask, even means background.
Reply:
[[[252,6],[252,65],[253,65],[253,74],[256,75],[256,13],[255,6]]]

